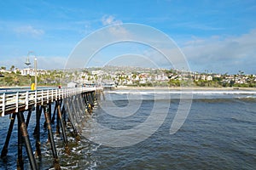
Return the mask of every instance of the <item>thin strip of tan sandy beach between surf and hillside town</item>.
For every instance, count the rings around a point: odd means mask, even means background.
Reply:
[[[227,87],[227,88],[214,88],[214,87],[117,87],[113,88],[113,90],[197,90],[197,91],[239,91],[239,90],[246,90],[246,91],[256,91],[256,88],[236,88],[236,87]]]

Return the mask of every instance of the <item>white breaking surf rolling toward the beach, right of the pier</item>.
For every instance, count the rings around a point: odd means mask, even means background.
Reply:
[[[104,92],[107,100],[147,100],[147,99],[243,99],[253,101],[256,91],[234,90],[204,90],[204,91],[174,91],[174,90],[122,90]]]

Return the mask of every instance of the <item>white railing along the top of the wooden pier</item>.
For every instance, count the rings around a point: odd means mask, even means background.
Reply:
[[[97,90],[102,88],[51,88],[2,93],[0,94],[0,116],[5,116],[11,111],[18,112],[20,109],[26,111],[32,105],[49,104],[58,99]]]

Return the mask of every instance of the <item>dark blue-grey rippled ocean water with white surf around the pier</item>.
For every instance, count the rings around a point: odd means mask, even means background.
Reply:
[[[182,99],[181,99],[182,98]],[[188,112],[187,112],[188,111]],[[0,146],[9,116],[0,117]],[[40,169],[53,169],[47,130],[41,119]],[[68,133],[55,143],[62,169],[255,169],[256,92],[241,90],[105,91],[84,117],[79,142]],[[28,127],[32,147],[35,114]],[[55,132],[55,127],[53,127]],[[15,169],[17,126],[0,169]],[[30,169],[24,149],[25,168]]]

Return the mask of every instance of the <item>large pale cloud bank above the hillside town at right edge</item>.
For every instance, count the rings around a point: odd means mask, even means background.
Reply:
[[[256,30],[237,37],[193,37],[182,48],[194,70],[256,73]]]

